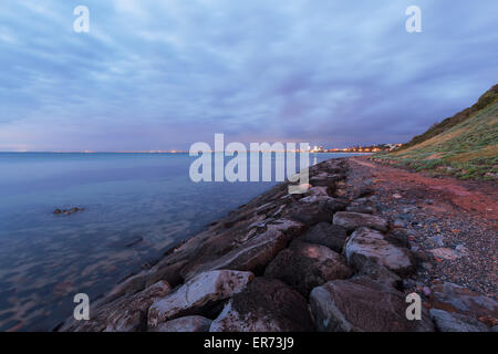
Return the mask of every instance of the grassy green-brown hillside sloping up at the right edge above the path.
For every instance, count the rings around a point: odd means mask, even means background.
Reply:
[[[498,85],[402,148],[373,157],[459,178],[498,178]]]

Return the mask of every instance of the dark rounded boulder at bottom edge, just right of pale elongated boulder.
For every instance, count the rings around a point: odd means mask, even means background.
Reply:
[[[212,322],[211,332],[311,332],[307,301],[277,279],[256,278],[234,295]]]

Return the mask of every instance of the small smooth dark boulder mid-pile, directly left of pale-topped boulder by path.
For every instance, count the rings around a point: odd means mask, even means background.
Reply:
[[[347,235],[344,228],[330,222],[319,222],[299,237],[299,240],[323,244],[341,253]]]

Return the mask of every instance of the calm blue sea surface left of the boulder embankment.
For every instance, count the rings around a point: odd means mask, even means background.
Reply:
[[[351,155],[311,154],[310,160]],[[0,153],[0,331],[50,331],[72,314],[74,294],[102,295],[277,184],[196,184],[194,159]],[[84,210],[53,214],[72,207]]]

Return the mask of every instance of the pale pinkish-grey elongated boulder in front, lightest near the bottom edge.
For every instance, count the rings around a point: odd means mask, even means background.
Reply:
[[[154,302],[148,310],[148,325],[155,327],[185,314],[196,314],[200,309],[242,291],[252,279],[251,272],[234,270],[200,273],[174,293]]]

